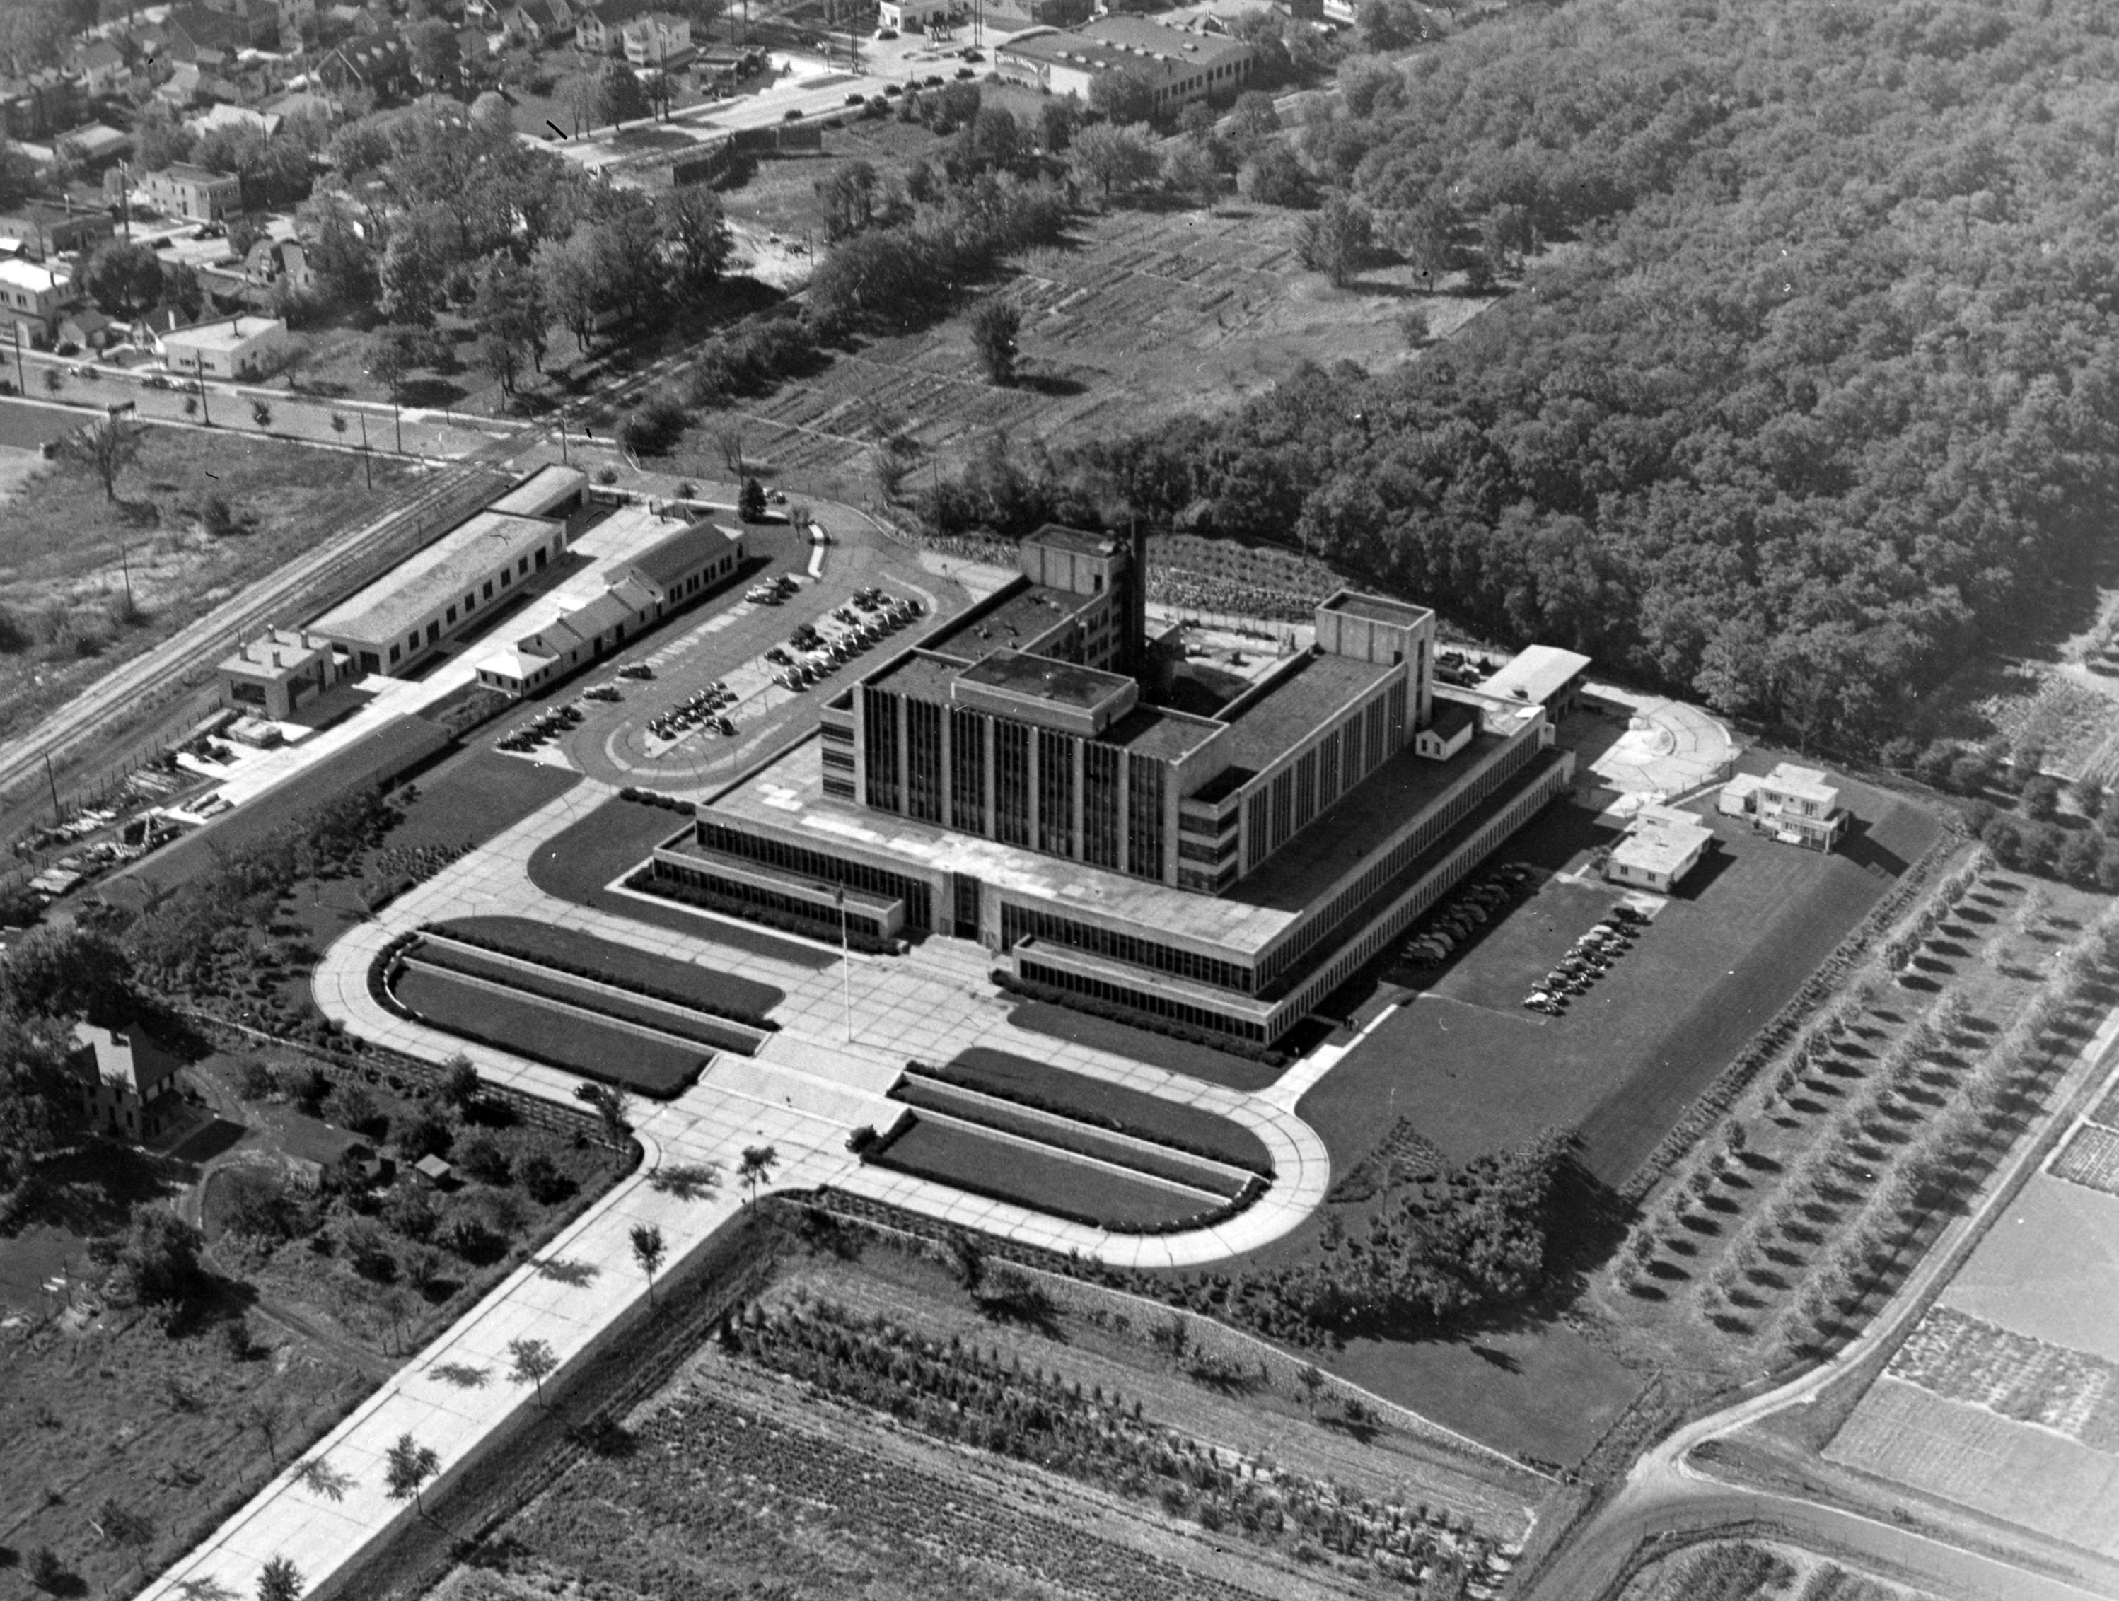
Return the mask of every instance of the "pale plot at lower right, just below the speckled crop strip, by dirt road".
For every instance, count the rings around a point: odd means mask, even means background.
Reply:
[[[2119,1457],[1901,1379],[1880,1379],[1824,1455],[2038,1533],[2119,1554]]]

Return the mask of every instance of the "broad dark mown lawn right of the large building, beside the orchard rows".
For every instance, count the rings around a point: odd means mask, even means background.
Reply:
[[[1928,813],[1850,790],[1869,824],[1860,856],[1818,856],[1712,820],[1719,856],[1557,1019],[1521,1000],[1617,894],[1547,881],[1301,1099],[1335,1171],[1405,1116],[1460,1161],[1572,1127],[1591,1175],[1621,1186],[1890,889],[1888,873],[1860,862],[1903,866],[1935,839]],[[1557,805],[1507,853],[1560,868],[1606,839],[1589,813]]]

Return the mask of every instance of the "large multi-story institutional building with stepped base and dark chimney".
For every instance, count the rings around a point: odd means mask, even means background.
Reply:
[[[655,877],[1271,1044],[1572,777],[1536,701],[1435,682],[1435,614],[1341,591],[1212,714],[1142,692],[1142,553],[1021,576],[712,796]]]

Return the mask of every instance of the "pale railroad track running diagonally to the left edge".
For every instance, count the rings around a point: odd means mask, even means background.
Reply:
[[[449,523],[492,498],[502,460],[523,447],[519,438],[496,438],[473,455],[451,462],[377,502],[367,519],[339,532],[303,557],[250,584],[206,616],[186,625],[142,656],[95,680],[64,707],[19,739],[0,743],[0,796],[19,792],[95,739],[121,714],[165,705],[201,682],[201,669],[231,650],[244,635],[267,623],[288,623],[316,610],[337,591],[364,576],[367,563],[396,546],[424,544]]]

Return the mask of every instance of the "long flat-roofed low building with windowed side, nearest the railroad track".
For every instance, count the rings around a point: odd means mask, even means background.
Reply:
[[[566,555],[566,525],[481,510],[309,623],[352,671],[400,673]]]

